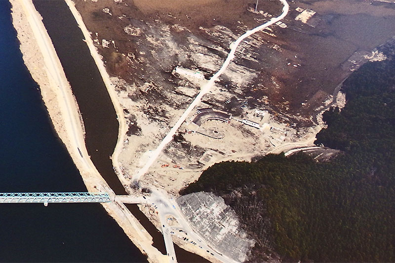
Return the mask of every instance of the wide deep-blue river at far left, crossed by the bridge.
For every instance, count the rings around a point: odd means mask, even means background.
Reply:
[[[0,192],[86,191],[0,1]],[[77,70],[77,68],[76,68]],[[98,204],[0,204],[1,262],[145,262]]]

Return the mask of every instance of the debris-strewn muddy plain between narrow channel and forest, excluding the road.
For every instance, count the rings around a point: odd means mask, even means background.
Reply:
[[[278,0],[260,0],[257,12],[256,0],[74,1],[124,109],[129,128],[118,161],[129,185],[201,85],[223,64],[229,45],[282,8]],[[199,105],[232,115],[231,123],[210,120],[191,128],[194,112],[142,185],[177,196],[214,163],[311,145],[322,127],[317,113],[332,103],[344,106],[344,95],[338,93],[342,81],[367,60],[385,59],[372,51],[395,34],[395,4],[289,4],[281,23],[240,44],[234,61]],[[316,13],[306,23],[295,20],[306,8]],[[184,73],[175,73],[177,66]],[[210,131],[224,136],[203,135]]]

